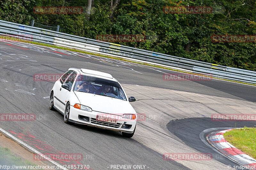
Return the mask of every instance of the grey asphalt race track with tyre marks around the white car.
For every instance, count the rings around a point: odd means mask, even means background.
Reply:
[[[211,79],[164,81],[169,70],[112,60],[49,47],[0,40],[1,114],[35,114],[34,121],[0,121],[8,131],[42,153],[78,153],[76,164],[90,169],[228,169],[236,166],[199,138],[205,129],[235,127],[235,122],[212,121],[212,114],[256,114],[256,87]],[[121,133],[68,125],[63,116],[49,110],[54,81],[37,81],[34,74],[63,74],[70,67],[113,75],[124,87],[138,114],[132,138]],[[100,104],[100,103],[99,103]],[[255,126],[239,121],[236,127]],[[207,135],[207,134],[206,134]],[[164,160],[163,153],[212,153],[212,160]],[[72,162],[56,160],[61,165]],[[49,162],[49,164],[52,164]],[[73,162],[74,164],[74,162]]]

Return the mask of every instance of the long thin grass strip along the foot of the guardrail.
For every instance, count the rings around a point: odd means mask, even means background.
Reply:
[[[158,65],[153,65],[153,64],[143,63],[143,62],[137,62],[137,61],[133,61],[133,60],[126,60],[126,59],[119,58],[119,57],[113,57],[113,56],[109,56],[109,55],[102,55],[102,54],[98,54],[98,53],[90,53],[90,52],[86,52],[86,51],[82,51],[82,50],[77,50],[77,49],[74,49],[74,48],[55,46],[55,45],[38,43],[38,42],[33,42],[33,41],[26,41],[26,40],[15,38],[15,37],[0,36],[0,39],[20,41],[20,42],[25,42],[25,43],[29,43],[29,44],[36,44],[36,45],[40,45],[40,46],[47,46],[47,47],[52,47],[52,48],[58,48],[58,49],[62,49],[62,50],[74,51],[74,52],[78,52],[78,53],[90,54],[90,55],[95,55],[95,56],[100,56],[100,57],[105,57],[105,58],[110,58],[110,59],[128,61],[128,62],[142,64],[142,65],[146,65],[146,66],[152,66],[152,67],[156,67],[156,68],[163,68],[163,69],[171,70],[171,71],[178,71],[178,72],[181,72],[181,73],[200,75],[200,76],[203,76],[203,77],[209,77],[209,78],[214,78],[214,79],[219,79],[219,80],[225,80],[225,81],[231,81],[231,82],[237,82],[237,83],[242,83],[242,84],[248,84],[248,85],[256,86],[256,84],[251,84],[251,83],[246,83],[246,82],[241,82],[241,81],[233,81],[233,80],[228,80],[228,79],[222,79],[222,78],[207,76],[205,74],[195,74],[195,73],[190,73],[190,72],[186,72],[186,71],[172,69],[172,68],[169,68],[169,67],[162,67],[162,66],[158,66]]]

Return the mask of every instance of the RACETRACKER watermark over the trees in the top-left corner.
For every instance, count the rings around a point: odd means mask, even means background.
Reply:
[[[79,6],[36,6],[35,14],[82,14],[83,7]]]

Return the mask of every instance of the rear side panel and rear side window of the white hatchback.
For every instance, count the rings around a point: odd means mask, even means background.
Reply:
[[[59,101],[58,98],[58,93],[60,91],[61,85],[65,82],[65,80],[68,78],[68,76],[73,72],[73,70],[68,70],[66,73],[64,73],[61,77],[60,77],[60,81],[56,81],[54,84],[54,88],[53,88],[53,93],[54,93],[54,98],[53,98],[53,102],[54,102],[54,106],[60,110],[60,107],[62,105],[62,103]]]

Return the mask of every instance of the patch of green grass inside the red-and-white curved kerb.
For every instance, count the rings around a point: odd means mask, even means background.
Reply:
[[[256,128],[234,129],[223,136],[237,149],[256,159]]]

